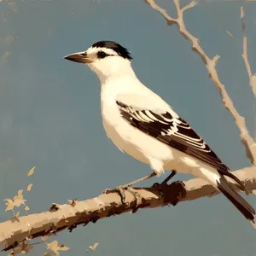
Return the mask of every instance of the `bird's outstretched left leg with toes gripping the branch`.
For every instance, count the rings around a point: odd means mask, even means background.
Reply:
[[[136,192],[136,189],[132,189],[131,186],[134,185],[134,184],[143,182],[144,180],[147,180],[148,178],[154,177],[154,176],[156,176],[156,173],[152,172],[151,174],[148,174],[145,177],[141,177],[141,178],[139,178],[139,179],[137,179],[137,180],[135,180],[131,183],[126,183],[124,185],[117,186],[115,189],[104,189],[102,193],[103,194],[109,194],[109,193],[113,193],[113,192],[118,192],[120,197],[121,197],[122,203],[125,204],[125,189],[127,189],[131,192],[132,195],[134,195],[136,197],[136,201],[137,201],[137,204],[138,204],[138,201],[139,201],[138,194]]]

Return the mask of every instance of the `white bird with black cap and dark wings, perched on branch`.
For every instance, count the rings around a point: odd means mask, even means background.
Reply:
[[[190,173],[212,184],[255,228],[253,207],[226,177],[248,195],[245,185],[187,121],[137,78],[128,49],[113,41],[99,41],[64,59],[83,63],[96,73],[101,83],[102,125],[108,138],[119,150],[153,170],[119,189],[166,171],[172,172],[160,186],[177,172]]]

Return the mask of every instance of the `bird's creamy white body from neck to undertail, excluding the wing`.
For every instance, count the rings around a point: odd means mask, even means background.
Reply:
[[[102,122],[108,137],[115,146],[134,159],[149,164],[158,175],[165,170],[177,170],[177,172],[189,172],[204,178],[205,175],[202,173],[201,167],[208,170],[207,164],[161,143],[123,119],[116,104],[117,98],[121,94],[140,95],[142,98],[146,96],[154,101],[152,104],[157,104],[156,108],[168,108],[166,102],[162,101],[159,96],[152,95],[154,93],[144,87],[136,77],[108,79],[102,83]],[[142,105],[147,106],[147,104],[148,102],[143,102]],[[172,109],[170,108],[168,111],[172,112]]]

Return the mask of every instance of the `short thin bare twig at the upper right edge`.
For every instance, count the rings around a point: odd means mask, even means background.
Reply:
[[[246,24],[243,20],[244,18],[244,10],[241,6],[241,15],[240,15],[240,18],[241,18],[241,28],[242,28],[242,34],[243,34],[243,38],[242,38],[242,59],[244,61],[244,64],[247,68],[247,74],[248,74],[248,77],[250,79],[250,86],[252,87],[252,90],[253,90],[253,93],[254,93],[254,96],[256,96],[256,82],[255,82],[255,77],[256,77],[256,73],[253,75],[252,73],[252,69],[250,67],[250,64],[249,64],[249,61],[248,61],[248,53],[247,53],[247,36],[246,36]]]

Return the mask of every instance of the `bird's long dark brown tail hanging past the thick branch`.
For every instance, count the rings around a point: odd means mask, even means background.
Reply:
[[[253,224],[253,227],[256,228],[255,211],[253,207],[238,194],[238,192],[226,180],[224,174],[218,172],[218,176],[219,178],[217,180],[213,180],[214,177],[216,178],[216,175],[211,175],[208,179],[214,184],[214,187],[216,187],[216,189],[218,189],[239,210],[239,212],[241,212],[241,214],[251,222],[251,224]],[[238,184],[241,187],[241,181]]]

